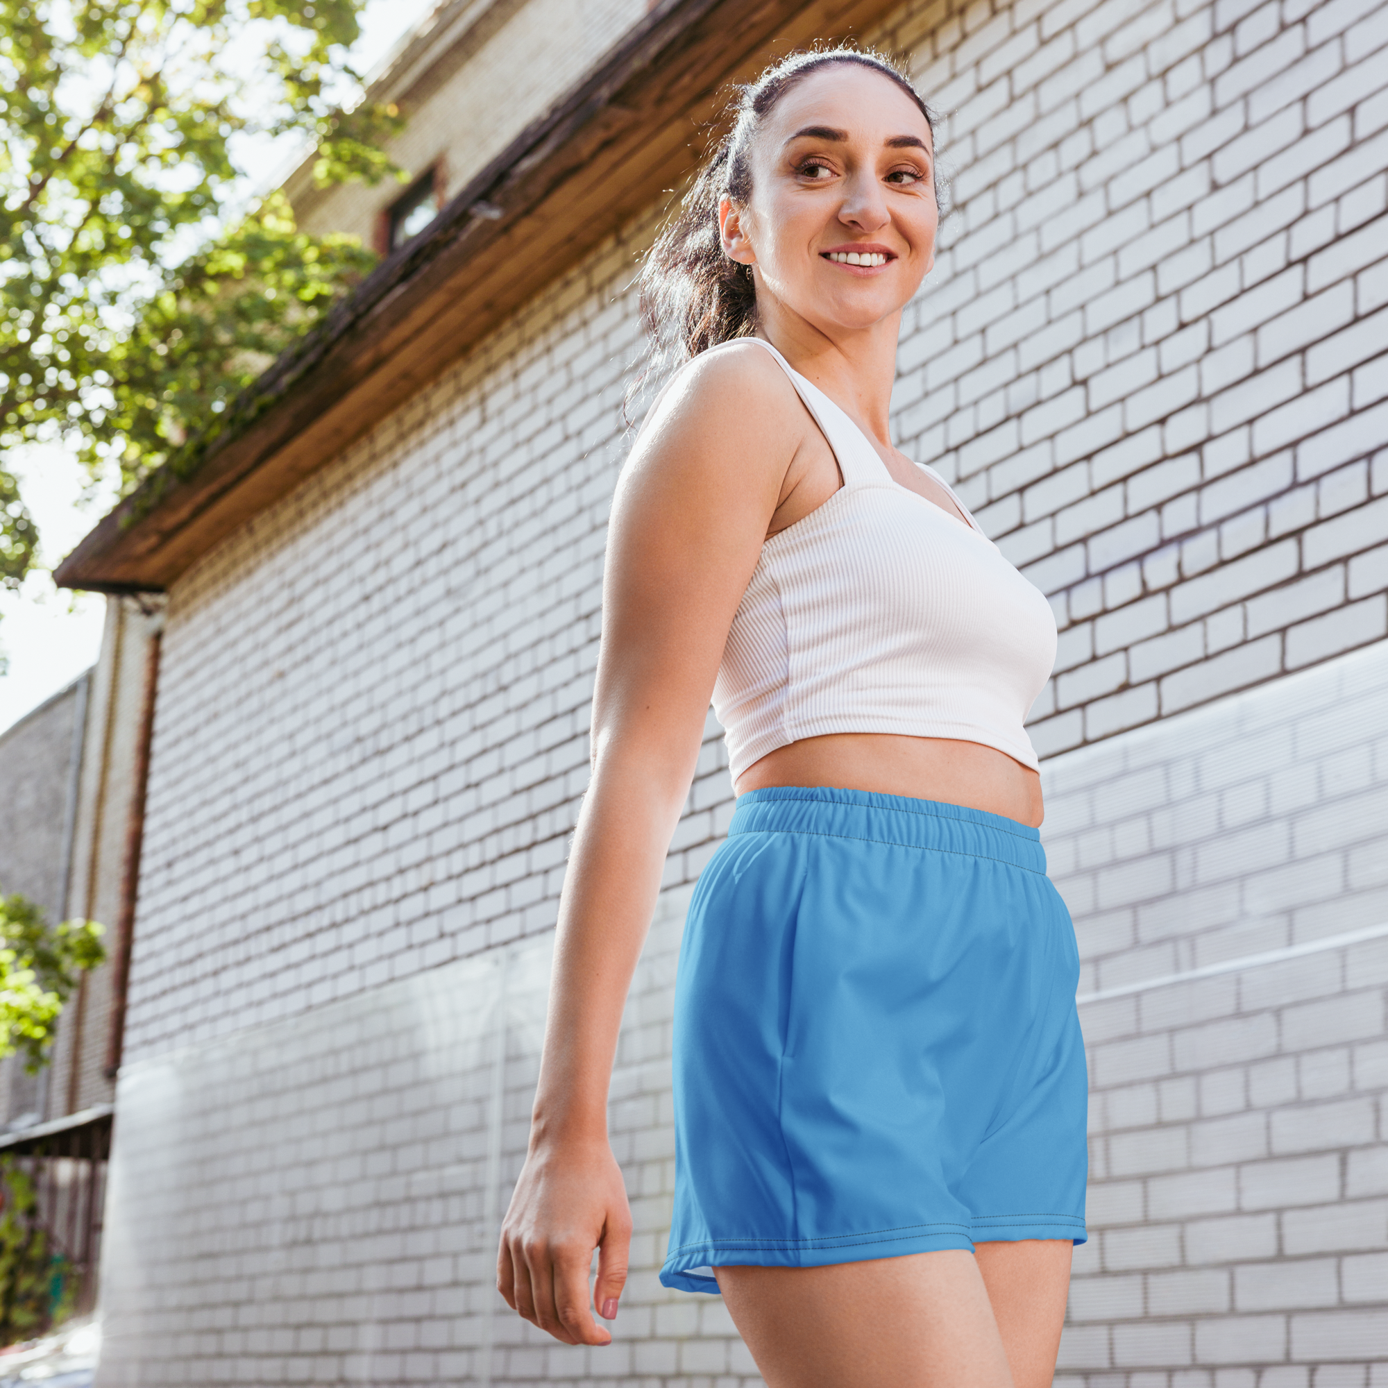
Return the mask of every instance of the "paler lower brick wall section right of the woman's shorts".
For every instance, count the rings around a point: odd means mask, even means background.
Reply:
[[[1388,1381],[1388,643],[1045,783],[1091,1066],[1058,1381]]]

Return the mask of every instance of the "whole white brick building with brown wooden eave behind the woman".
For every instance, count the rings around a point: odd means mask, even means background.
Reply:
[[[948,117],[898,443],[1062,629],[1031,734],[1094,1180],[1060,1378],[1388,1384],[1388,6],[451,0],[383,79],[407,201],[290,183],[386,244],[443,210],[61,570],[168,594],[101,1388],[755,1381],[655,1278],[712,719],[613,1080],[615,1345],[518,1320],[493,1258],[636,260],[722,83],[847,32]]]

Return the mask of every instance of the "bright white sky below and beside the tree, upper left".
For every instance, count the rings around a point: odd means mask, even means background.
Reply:
[[[354,51],[358,65],[375,69],[436,3],[366,0]],[[280,176],[287,174],[289,167],[283,167]],[[104,490],[83,504],[86,475],[61,448],[24,450],[6,458],[4,466],[19,479],[25,504],[37,522],[43,568],[29,573],[19,593],[0,590],[0,655],[8,659],[8,673],[0,676],[0,731],[96,662],[105,600],[94,593],[60,591],[49,570],[114,501],[112,493]]]

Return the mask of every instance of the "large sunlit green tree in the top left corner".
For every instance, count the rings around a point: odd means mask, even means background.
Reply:
[[[321,185],[404,176],[383,149],[400,115],[347,57],[361,4],[0,0],[0,452],[62,440],[125,489],[194,466],[369,269],[279,194],[230,212],[239,136],[297,133]],[[0,472],[0,583],[35,541]]]

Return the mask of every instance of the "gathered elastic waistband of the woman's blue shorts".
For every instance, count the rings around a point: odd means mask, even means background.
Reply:
[[[992,858],[1045,873],[1041,830],[990,815],[984,809],[947,805],[911,795],[881,795],[836,786],[763,786],[737,797],[734,834],[827,834],[867,843],[933,848],[940,852]]]

